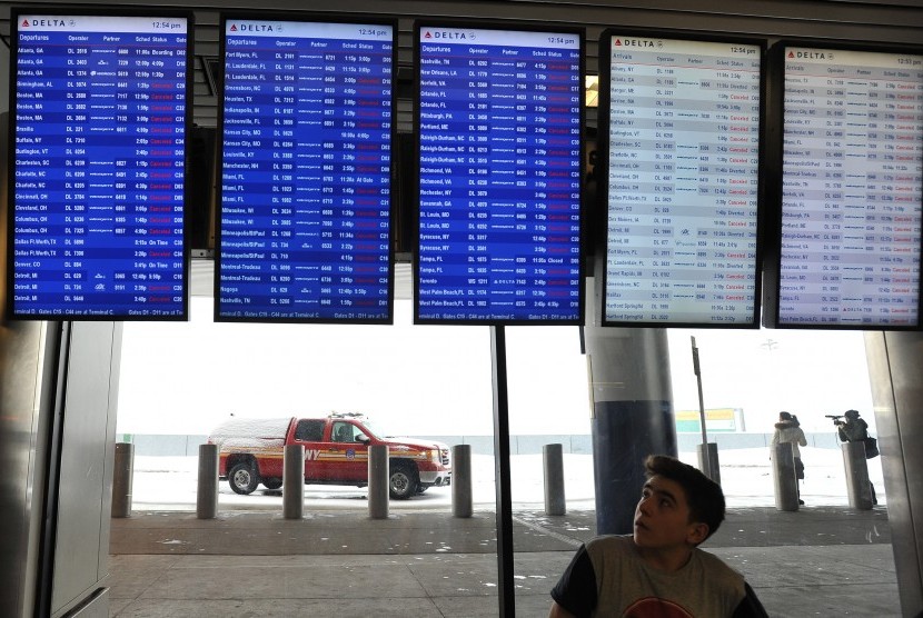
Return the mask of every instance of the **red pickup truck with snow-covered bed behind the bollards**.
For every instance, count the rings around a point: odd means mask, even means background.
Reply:
[[[237,494],[282,486],[286,445],[305,446],[305,485],[368,485],[368,447],[387,445],[390,496],[406,500],[451,482],[449,449],[440,442],[378,436],[363,415],[326,418],[232,418],[217,427],[218,475]]]

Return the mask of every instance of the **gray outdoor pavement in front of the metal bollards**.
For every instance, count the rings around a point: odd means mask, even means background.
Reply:
[[[547,616],[548,591],[595,528],[592,510],[514,515],[516,616]],[[489,511],[135,511],[112,520],[110,616],[498,616],[496,547]],[[885,507],[728,509],[703,547],[770,616],[901,616]]]

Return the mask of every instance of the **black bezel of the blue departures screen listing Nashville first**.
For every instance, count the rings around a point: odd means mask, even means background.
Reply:
[[[470,30],[492,30],[492,31],[516,31],[516,32],[537,32],[542,34],[572,34],[579,40],[579,84],[580,84],[580,118],[579,118],[579,217],[580,217],[580,232],[579,232],[579,283],[578,283],[578,308],[577,317],[574,319],[557,319],[557,320],[506,320],[496,318],[485,319],[439,319],[439,318],[420,318],[419,315],[419,247],[420,247],[420,229],[419,229],[419,212],[420,212],[420,31],[424,28],[464,28]],[[585,163],[585,123],[586,123],[586,31],[583,28],[567,28],[550,26],[548,28],[536,28],[532,23],[523,23],[516,21],[502,20],[417,20],[414,22],[414,154],[415,154],[415,171],[414,171],[414,200],[415,200],[415,217],[414,217],[414,323],[415,325],[455,325],[455,326],[583,326],[586,311],[586,267],[583,256],[586,247],[586,203],[584,199],[584,175],[586,170]]]

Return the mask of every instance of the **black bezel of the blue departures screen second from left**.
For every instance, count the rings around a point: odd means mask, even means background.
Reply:
[[[395,166],[397,163],[397,47],[398,47],[398,22],[394,19],[381,18],[357,18],[355,14],[340,13],[295,13],[290,11],[282,12],[227,12],[221,13],[219,20],[218,31],[218,48],[219,48],[219,66],[220,79],[218,80],[218,92],[216,93],[218,100],[218,123],[216,136],[216,169],[217,177],[220,179],[224,167],[225,152],[225,59],[226,59],[226,41],[227,41],[227,23],[231,20],[241,21],[279,21],[279,22],[297,22],[297,23],[348,23],[348,24],[368,24],[368,26],[386,26],[391,29],[391,127],[390,127],[390,171],[389,192],[388,192],[388,308],[384,318],[299,318],[299,317],[229,317],[220,315],[220,287],[221,287],[221,218],[222,218],[222,191],[220,180],[216,182],[216,220],[215,220],[215,277],[214,277],[214,309],[212,319],[216,322],[258,322],[258,323],[329,323],[329,325],[391,325],[394,323],[395,311]]]

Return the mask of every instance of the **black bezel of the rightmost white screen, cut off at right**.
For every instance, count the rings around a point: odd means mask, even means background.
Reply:
[[[923,46],[891,46],[891,44],[875,44],[869,42],[856,41],[837,41],[831,42],[826,39],[797,38],[786,37],[776,41],[768,52],[768,81],[772,93],[772,106],[777,111],[774,120],[776,126],[774,128],[773,148],[774,152],[771,160],[772,169],[772,200],[770,227],[767,233],[766,252],[764,258],[764,286],[763,286],[763,326],[766,328],[780,330],[894,330],[894,331],[916,331],[923,329],[923,290],[920,290],[920,285],[923,283],[923,277],[917,281],[917,322],[913,326],[891,326],[891,325],[857,325],[844,322],[781,322],[780,321],[780,299],[781,290],[781,268],[782,268],[782,200],[783,200],[783,163],[784,163],[784,129],[785,129],[785,50],[790,47],[814,48],[817,50],[832,51],[857,51],[871,53],[894,53],[900,56],[923,56]],[[923,139],[923,134],[921,136]],[[923,201],[923,195],[921,195]],[[923,246],[923,238],[921,238],[921,246]],[[921,247],[923,249],[923,247]],[[923,260],[922,260],[923,261]],[[920,275],[919,275],[920,276]]]

